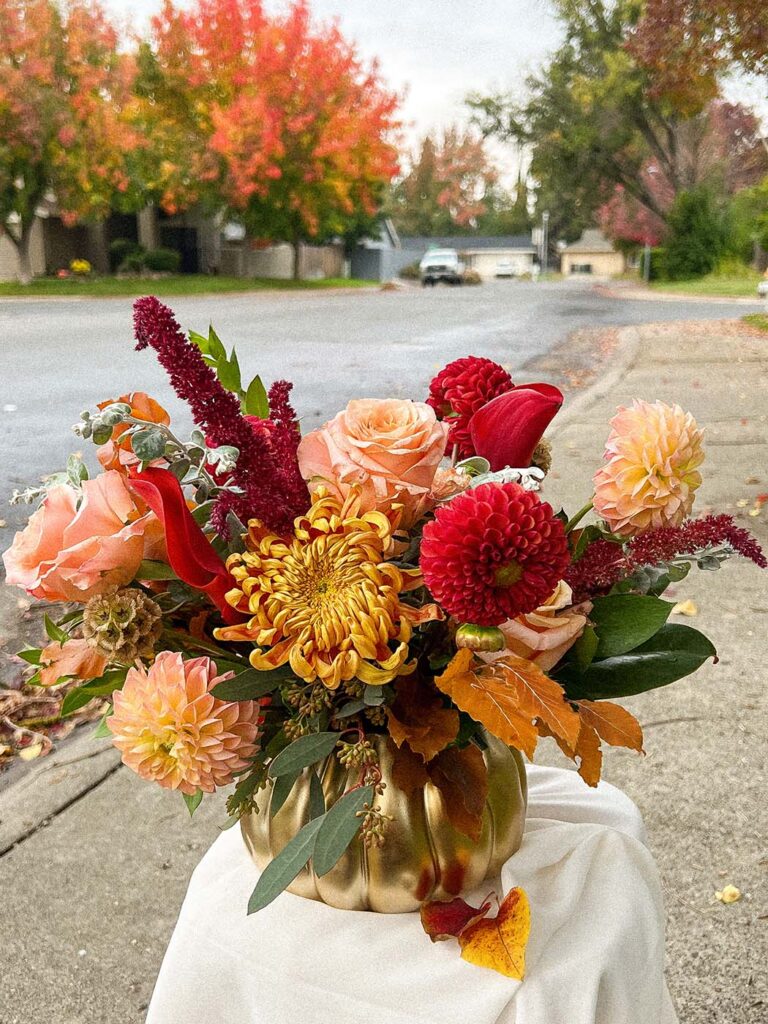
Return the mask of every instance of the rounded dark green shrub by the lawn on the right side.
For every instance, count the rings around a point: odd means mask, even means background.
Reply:
[[[666,274],[670,281],[702,278],[715,269],[725,248],[722,211],[707,188],[675,199],[669,216]]]

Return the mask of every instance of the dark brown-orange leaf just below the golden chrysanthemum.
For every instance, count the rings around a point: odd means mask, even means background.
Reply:
[[[459,732],[459,713],[443,707],[438,693],[417,676],[394,684],[395,698],[387,708],[389,734],[398,746],[408,743],[425,761],[452,743]]]

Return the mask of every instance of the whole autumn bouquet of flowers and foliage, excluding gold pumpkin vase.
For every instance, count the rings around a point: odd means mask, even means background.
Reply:
[[[540,497],[555,387],[469,356],[424,401],[351,400],[302,436],[292,385],[244,386],[212,329],[185,336],[154,298],[134,323],[197,428],[180,439],[142,392],[81,415],[101,471],[73,456],[20,496],[42,502],[4,555],[9,583],[68,602],[22,657],[30,682],[67,688],[63,714],[103,701],[125,764],[190,812],[233,782],[237,821],[341,761],[348,793],[327,808],[321,788],[252,910],[321,847],[329,869],[351,842],[386,843],[374,735],[393,751],[389,784],[431,781],[472,839],[487,733],[528,758],[552,737],[596,785],[603,743],[642,750],[613,698],[715,656],[669,623],[667,587],[734,554],[766,566],[729,516],[690,517],[702,431],[678,407],[620,410],[593,497],[568,516]],[[510,899],[519,937],[524,899]],[[425,927],[472,958],[487,909],[426,908]]]

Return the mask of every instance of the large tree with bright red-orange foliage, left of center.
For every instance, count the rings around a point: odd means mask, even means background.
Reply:
[[[223,208],[294,247],[370,227],[397,169],[397,96],[306,0],[166,0],[139,53],[135,116],[157,123],[147,182],[167,209]],[[143,102],[141,98],[143,97]]]

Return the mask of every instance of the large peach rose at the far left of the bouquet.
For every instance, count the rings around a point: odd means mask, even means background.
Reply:
[[[136,574],[142,558],[162,558],[163,527],[134,500],[119,472],[52,487],[3,555],[6,582],[46,601],[87,601]]]

